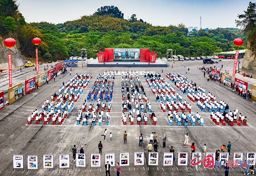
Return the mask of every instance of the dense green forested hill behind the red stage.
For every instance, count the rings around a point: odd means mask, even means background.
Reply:
[[[93,15],[63,24],[26,23],[13,0],[0,1],[3,2],[0,3],[1,35],[15,34],[22,54],[27,57],[35,54],[32,39],[41,38],[39,53],[46,61],[80,56],[81,48],[87,49],[88,58],[95,58],[98,50],[104,48],[149,48],[159,57],[165,57],[166,50],[173,49],[177,55],[202,56],[238,49],[233,44],[237,37],[246,41],[242,31],[236,28],[199,30],[188,35],[188,29],[182,23],[152,26],[137,19],[135,14],[126,20],[115,6],[101,7]],[[12,6],[7,11],[3,4]],[[246,42],[239,49],[245,48]]]

